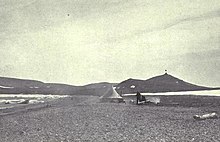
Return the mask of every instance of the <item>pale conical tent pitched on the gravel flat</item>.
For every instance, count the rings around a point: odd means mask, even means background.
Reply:
[[[106,93],[100,97],[103,102],[123,102],[123,98],[115,91],[113,87],[109,88]]]

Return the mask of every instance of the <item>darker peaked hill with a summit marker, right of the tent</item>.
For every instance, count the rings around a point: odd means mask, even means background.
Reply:
[[[178,79],[170,74],[163,74],[147,80],[128,79],[116,85],[116,91],[120,94],[136,93],[156,93],[156,92],[177,92],[177,91],[196,91],[210,90],[210,88],[198,86]]]

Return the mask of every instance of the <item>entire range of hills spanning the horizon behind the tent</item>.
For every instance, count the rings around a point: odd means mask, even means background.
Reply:
[[[92,83],[74,86],[60,83],[44,83],[37,80],[0,77],[0,94],[56,94],[56,95],[94,95],[102,96],[109,87],[115,86],[119,94],[139,92],[175,92],[211,90],[178,79],[167,73],[147,80],[128,79],[121,83]]]

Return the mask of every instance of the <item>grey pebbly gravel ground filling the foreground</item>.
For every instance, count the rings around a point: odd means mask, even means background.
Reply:
[[[74,96],[0,111],[1,142],[220,141],[220,119],[195,121],[218,108],[98,103]]]

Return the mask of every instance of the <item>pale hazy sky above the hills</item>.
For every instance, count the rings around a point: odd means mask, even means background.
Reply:
[[[219,0],[0,0],[0,76],[220,86]]]

